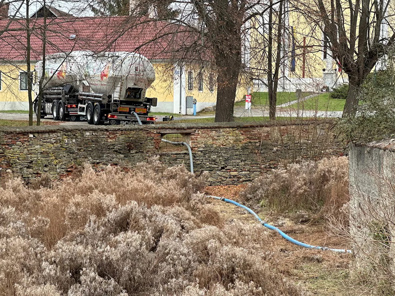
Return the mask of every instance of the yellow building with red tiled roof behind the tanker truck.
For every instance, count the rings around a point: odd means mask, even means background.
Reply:
[[[5,28],[8,21],[0,20],[0,27]],[[30,22],[32,28],[43,28],[43,19],[30,19]],[[28,110],[24,25],[23,20],[13,21],[12,30],[0,38],[0,110]],[[174,54],[174,40],[178,38],[180,44],[185,41],[177,30],[173,31],[176,32],[174,36],[164,34],[171,25],[150,21],[132,26],[128,17],[54,17],[47,20],[46,54],[75,50],[137,52],[147,57],[155,68],[156,79],[147,91],[148,97],[158,98],[158,105],[152,107],[152,111],[192,114],[194,99],[197,111],[214,106],[215,73],[206,68],[199,69],[193,62],[179,59],[178,53]],[[156,37],[162,35],[164,37]],[[32,70],[41,60],[42,44],[40,30],[34,31],[30,54]],[[37,76],[40,74],[34,73],[33,77]],[[239,88],[236,99],[243,99],[245,94],[246,88]],[[36,94],[32,96],[34,99]]]

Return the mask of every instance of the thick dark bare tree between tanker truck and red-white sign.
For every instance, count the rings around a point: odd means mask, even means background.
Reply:
[[[201,34],[217,67],[217,104],[215,122],[233,121],[237,82],[242,67],[241,27],[245,22],[247,1],[192,1],[202,21]]]

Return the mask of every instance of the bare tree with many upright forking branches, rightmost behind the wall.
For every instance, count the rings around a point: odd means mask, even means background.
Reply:
[[[333,58],[348,75],[343,116],[355,116],[361,85],[395,40],[395,34],[388,36],[388,28],[393,28],[390,2],[314,0],[308,7],[299,3],[299,12],[325,31]]]

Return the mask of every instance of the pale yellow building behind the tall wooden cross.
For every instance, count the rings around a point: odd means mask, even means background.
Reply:
[[[294,92],[297,88],[302,91],[319,91],[322,88],[331,90],[341,84],[348,82],[348,75],[341,69],[341,65],[332,57],[329,39],[323,33],[323,24],[312,22],[316,17],[319,19],[320,15],[311,16],[309,13],[319,11],[317,2],[307,1],[304,4],[301,2],[284,1],[285,14],[282,17],[282,36],[281,36],[281,61],[280,73],[278,80],[278,91]],[[329,4],[329,2],[325,2]],[[352,2],[339,2],[342,7],[342,18],[344,18],[344,30],[346,35],[350,37],[350,9],[349,6],[354,5]],[[376,16],[373,15],[375,11],[375,3],[369,2],[371,8],[371,21],[369,30],[371,30],[370,38],[374,36],[374,25]],[[392,34],[392,24],[394,23],[393,2],[384,1],[384,5],[389,4],[387,13],[380,25],[380,43],[385,43]],[[295,4],[295,6],[292,6]],[[376,3],[377,4],[377,3]],[[262,11],[267,6],[262,4]],[[268,3],[266,2],[266,5]],[[305,6],[303,6],[305,5]],[[278,6],[273,7],[273,51],[276,50],[276,34],[278,30]],[[328,9],[330,14],[331,9]],[[309,18],[312,17],[312,18]],[[330,17],[330,16],[329,16]],[[261,17],[256,17],[246,24],[246,49],[249,49],[248,55],[250,59],[250,70],[254,78],[254,90],[267,91],[265,84],[267,84],[267,62],[268,62],[268,33],[269,33],[269,11],[268,9]],[[357,21],[357,25],[359,20]],[[349,41],[348,46],[354,46],[355,51],[358,51],[358,32],[356,29],[357,40],[354,45]],[[373,41],[370,40],[370,43]],[[373,45],[371,45],[373,46]],[[356,58],[356,56],[355,56]],[[273,68],[276,57],[273,56]],[[376,63],[376,68],[382,69],[386,67],[385,58]]]

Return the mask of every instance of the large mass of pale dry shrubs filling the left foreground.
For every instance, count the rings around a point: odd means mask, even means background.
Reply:
[[[260,225],[226,224],[204,176],[157,160],[0,188],[0,294],[301,295]],[[199,192],[200,191],[200,192]]]

